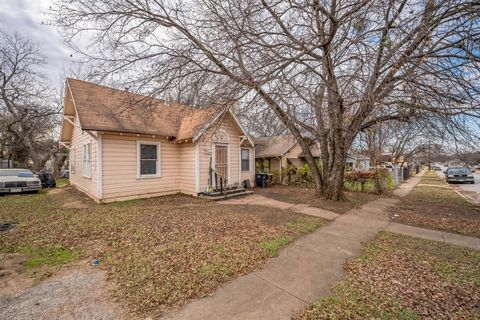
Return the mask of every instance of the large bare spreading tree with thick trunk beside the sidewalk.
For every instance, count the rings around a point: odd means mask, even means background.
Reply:
[[[199,84],[205,102],[269,108],[318,192],[335,200],[360,131],[479,116],[479,12],[467,0],[56,0],[52,9],[69,40],[92,39],[84,53],[104,79],[164,96]],[[305,136],[319,142],[320,168]]]

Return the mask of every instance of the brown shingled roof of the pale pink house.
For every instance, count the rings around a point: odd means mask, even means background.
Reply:
[[[193,138],[225,108],[194,108],[86,81],[67,78],[82,130]],[[66,96],[67,96],[66,94]]]

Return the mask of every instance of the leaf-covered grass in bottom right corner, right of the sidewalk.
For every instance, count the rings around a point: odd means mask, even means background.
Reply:
[[[301,320],[479,319],[480,252],[382,232]]]

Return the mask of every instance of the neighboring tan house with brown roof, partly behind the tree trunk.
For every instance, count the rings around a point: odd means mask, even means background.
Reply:
[[[255,161],[266,173],[275,172],[288,164],[302,165],[299,159],[302,148],[293,135],[257,137],[255,142]]]

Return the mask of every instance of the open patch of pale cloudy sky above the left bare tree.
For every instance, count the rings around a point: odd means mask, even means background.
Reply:
[[[25,38],[40,44],[47,65],[45,73],[51,84],[59,88],[69,70],[71,50],[54,27],[42,24],[51,0],[0,0],[0,30],[18,32]]]

